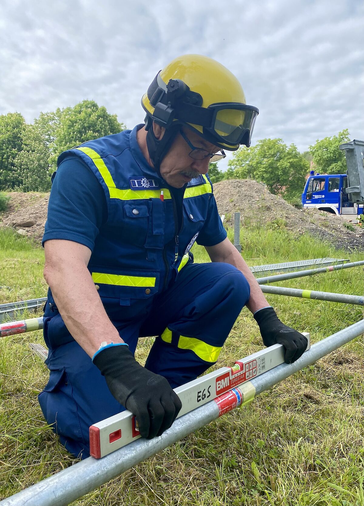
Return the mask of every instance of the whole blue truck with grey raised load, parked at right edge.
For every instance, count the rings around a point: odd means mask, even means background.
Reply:
[[[346,174],[315,174],[311,171],[302,193],[303,207],[356,220],[364,214],[364,142],[342,144],[345,151]]]

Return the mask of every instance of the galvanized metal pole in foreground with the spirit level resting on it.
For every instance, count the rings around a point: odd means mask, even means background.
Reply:
[[[294,364],[281,364],[229,390],[217,399],[178,418],[164,434],[154,439],[137,441],[103,458],[86,458],[29,488],[4,499],[2,506],[64,506],[84,496],[112,478],[128,471],[212,420],[251,401],[283,379],[313,364],[316,360],[345,345],[364,332],[364,320],[340,330],[311,346]]]

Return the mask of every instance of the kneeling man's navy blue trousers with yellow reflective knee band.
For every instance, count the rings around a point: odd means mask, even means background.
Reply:
[[[245,276],[225,263],[188,264],[173,285],[149,303],[143,314],[111,321],[134,353],[138,339],[157,338],[145,367],[175,388],[213,365],[237,316],[250,297]],[[91,358],[74,341],[57,346],[53,334],[61,316],[45,313],[44,338],[50,379],[39,404],[61,443],[75,456],[89,456],[89,427],[123,411]],[[67,340],[66,340],[67,341]]]

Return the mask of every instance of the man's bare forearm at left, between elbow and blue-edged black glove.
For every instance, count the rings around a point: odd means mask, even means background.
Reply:
[[[123,343],[85,264],[70,266],[59,262],[45,269],[45,278],[66,327],[90,357],[103,341]]]

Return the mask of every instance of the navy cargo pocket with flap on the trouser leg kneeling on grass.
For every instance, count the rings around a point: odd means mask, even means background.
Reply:
[[[86,443],[77,415],[77,405],[72,395],[72,385],[65,368],[51,370],[44,390],[38,401],[47,423],[63,440],[68,438]]]

